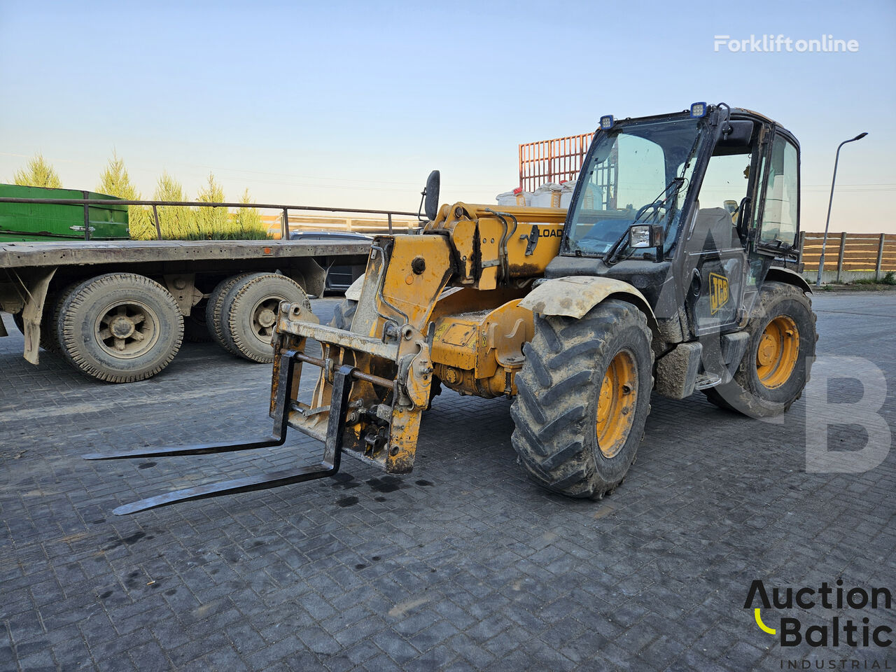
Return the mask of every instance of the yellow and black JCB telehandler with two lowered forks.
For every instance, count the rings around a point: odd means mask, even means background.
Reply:
[[[438,207],[422,235],[376,237],[366,275],[329,326],[280,305],[274,435],[89,459],[325,444],[323,463],[160,495],[133,513],[332,476],[343,452],[391,473],[414,465],[441,386],[513,397],[513,448],[539,484],[599,498],[631,467],[650,393],[773,416],[796,401],[815,316],[799,262],[799,144],[766,116],[695,103],[600,119],[568,211]],[[421,205],[423,202],[421,202]],[[306,354],[309,340],[322,356]],[[299,379],[317,383],[300,399]]]

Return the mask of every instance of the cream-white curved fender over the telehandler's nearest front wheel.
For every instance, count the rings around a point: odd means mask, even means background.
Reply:
[[[533,313],[564,315],[581,319],[601,301],[615,297],[627,301],[647,315],[650,330],[657,331],[657,318],[644,295],[632,285],[613,278],[588,275],[572,275],[547,280],[521,300],[520,306]]]

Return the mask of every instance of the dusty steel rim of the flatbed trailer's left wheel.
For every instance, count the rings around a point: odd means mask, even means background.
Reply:
[[[159,316],[140,301],[116,302],[99,311],[93,333],[99,347],[109,355],[138,358],[159,340]]]

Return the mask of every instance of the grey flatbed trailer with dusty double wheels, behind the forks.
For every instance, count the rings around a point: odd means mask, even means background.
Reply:
[[[289,239],[0,243],[0,309],[22,329],[32,364],[40,348],[58,350],[112,383],[159,373],[184,339],[271,362],[280,300],[323,294],[326,269],[363,266],[369,248]]]

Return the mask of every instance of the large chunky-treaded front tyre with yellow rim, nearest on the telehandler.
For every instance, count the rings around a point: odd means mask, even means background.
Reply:
[[[622,483],[650,413],[644,314],[609,299],[582,319],[535,316],[516,376],[513,449],[549,490],[599,499]]]

